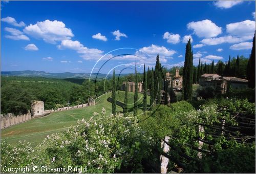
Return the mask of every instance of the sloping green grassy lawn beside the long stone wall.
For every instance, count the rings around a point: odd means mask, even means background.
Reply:
[[[129,103],[133,103],[134,93],[129,93]],[[138,94],[140,100],[143,100],[143,94]],[[4,130],[1,130],[1,141],[5,140],[7,143],[15,144],[19,140],[33,143],[35,146],[42,142],[47,135],[59,132],[71,125],[75,125],[79,119],[88,119],[94,112],[100,113],[102,107],[106,109],[106,114],[111,113],[112,105],[106,99],[111,97],[111,94],[102,95],[96,100],[95,106],[89,106],[84,108],[79,108],[76,110],[62,111],[52,113],[46,117],[31,119],[27,122],[20,123]],[[118,91],[116,94],[117,100],[123,102],[124,92]],[[148,97],[148,104],[149,99]],[[131,104],[132,105],[132,104]],[[142,105],[141,105],[142,106]],[[139,113],[142,112],[142,107],[139,107]],[[131,110],[132,111],[132,110]],[[117,112],[122,112],[122,108],[117,106]]]

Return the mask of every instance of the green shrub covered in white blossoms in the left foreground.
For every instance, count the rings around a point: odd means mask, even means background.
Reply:
[[[135,121],[122,114],[107,116],[103,108],[101,114],[94,113],[88,121],[82,119],[64,132],[47,136],[32,155],[32,148],[21,148],[19,152],[26,156],[13,155],[12,159],[4,154],[2,163],[9,167],[20,166],[24,161],[29,166],[50,168],[87,166],[90,173],[143,172],[141,161],[151,155],[154,141],[147,138],[138,124],[132,124]]]

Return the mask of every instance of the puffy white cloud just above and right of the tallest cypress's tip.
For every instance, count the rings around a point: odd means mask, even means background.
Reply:
[[[192,21],[187,24],[187,28],[194,31],[198,37],[216,37],[222,33],[221,27],[218,27],[211,20]]]

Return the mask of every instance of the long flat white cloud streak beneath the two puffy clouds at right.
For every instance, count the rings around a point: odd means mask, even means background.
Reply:
[[[223,43],[234,44],[234,43],[238,43],[245,40],[248,40],[248,39],[233,37],[233,36],[223,36],[223,37],[205,38],[201,40],[201,42],[205,45],[214,46],[214,45],[219,45]]]

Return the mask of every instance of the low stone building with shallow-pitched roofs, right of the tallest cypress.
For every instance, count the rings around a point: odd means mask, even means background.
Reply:
[[[229,88],[242,89],[248,87],[248,80],[238,77],[222,77],[218,74],[203,74],[199,78],[200,86],[213,86],[217,92],[225,94]]]

